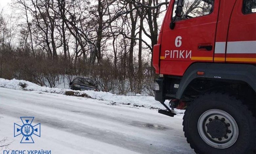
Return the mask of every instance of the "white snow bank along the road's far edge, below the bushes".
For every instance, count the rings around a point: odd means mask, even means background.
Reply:
[[[27,87],[23,88],[20,85],[26,84]],[[66,91],[74,91],[77,95],[87,94],[91,98],[97,100],[104,100],[107,103],[118,104],[118,105],[129,105],[129,106],[136,106],[136,107],[146,107],[146,108],[161,108],[165,109],[158,101],[155,101],[154,97],[152,96],[124,96],[124,95],[114,95],[110,92],[103,92],[103,91],[78,91],[78,90],[71,90],[71,89],[61,89],[61,88],[50,88],[50,87],[41,87],[39,85],[33,84],[28,81],[24,80],[6,80],[0,78],[0,87],[7,87],[13,89],[23,89],[23,90],[30,90],[30,91],[37,91],[37,92],[48,92],[48,93],[57,93],[57,94],[65,94]],[[104,102],[104,103],[106,103]],[[168,102],[166,105],[168,105]],[[175,109],[175,112],[180,115],[179,117],[182,118],[184,110]]]

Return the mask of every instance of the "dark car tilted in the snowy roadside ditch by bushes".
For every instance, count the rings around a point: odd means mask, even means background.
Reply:
[[[98,91],[96,82],[92,79],[76,77],[69,83],[69,87],[72,90],[94,90]]]

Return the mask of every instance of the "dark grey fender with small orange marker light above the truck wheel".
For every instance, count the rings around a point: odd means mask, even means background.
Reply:
[[[198,75],[202,71],[204,75]],[[211,78],[216,80],[237,80],[247,83],[256,91],[256,67],[249,64],[224,64],[224,63],[194,63],[185,71],[176,98],[181,99],[189,83],[196,78]]]

